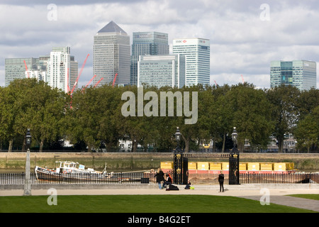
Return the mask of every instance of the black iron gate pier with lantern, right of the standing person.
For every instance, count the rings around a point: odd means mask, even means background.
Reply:
[[[238,133],[234,127],[232,133],[233,149],[230,150],[229,154],[229,184],[240,184],[239,175],[239,151],[237,150],[237,138]]]

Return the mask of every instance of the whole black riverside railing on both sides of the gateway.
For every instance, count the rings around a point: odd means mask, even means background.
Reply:
[[[173,176],[172,172],[169,172]],[[155,172],[112,172],[107,175],[31,173],[31,184],[155,184]],[[24,184],[25,173],[1,173],[0,184]],[[240,173],[240,184],[319,184],[319,173]]]

